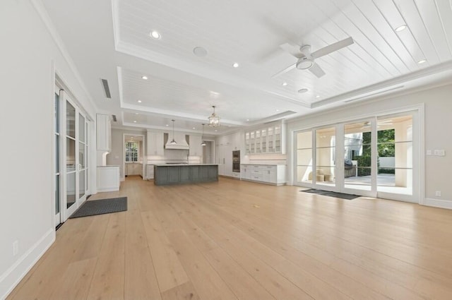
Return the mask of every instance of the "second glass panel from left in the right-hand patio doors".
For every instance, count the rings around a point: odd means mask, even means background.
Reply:
[[[316,130],[316,184],[335,186],[335,127]]]

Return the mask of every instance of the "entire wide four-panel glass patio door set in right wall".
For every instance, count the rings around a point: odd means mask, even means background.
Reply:
[[[416,202],[418,124],[412,111],[298,131],[296,184]]]

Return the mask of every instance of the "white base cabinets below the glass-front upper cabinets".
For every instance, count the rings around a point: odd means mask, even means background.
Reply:
[[[242,180],[280,186],[285,184],[285,164],[241,164],[240,176]]]

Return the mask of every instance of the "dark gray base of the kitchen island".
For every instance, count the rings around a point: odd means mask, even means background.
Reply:
[[[218,164],[155,164],[154,184],[196,184],[218,181]]]

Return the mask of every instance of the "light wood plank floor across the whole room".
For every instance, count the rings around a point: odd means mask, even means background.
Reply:
[[[129,177],[66,222],[8,300],[452,299],[452,211],[221,178]]]

